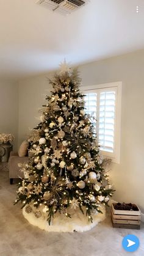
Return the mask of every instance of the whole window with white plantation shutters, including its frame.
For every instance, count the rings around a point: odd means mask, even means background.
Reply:
[[[121,82],[85,87],[83,92],[101,152],[120,163]]]

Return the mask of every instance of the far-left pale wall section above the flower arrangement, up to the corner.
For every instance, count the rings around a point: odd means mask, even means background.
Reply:
[[[0,81],[0,133],[15,136],[14,150],[18,143],[18,83]]]

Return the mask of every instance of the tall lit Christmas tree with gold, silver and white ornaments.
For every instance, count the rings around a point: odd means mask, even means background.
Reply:
[[[81,79],[64,62],[49,84],[53,89],[29,140],[29,163],[21,169],[24,178],[15,203],[21,201],[36,218],[45,213],[49,225],[58,212],[73,218],[71,208],[92,222],[113,191],[92,119],[85,114]]]

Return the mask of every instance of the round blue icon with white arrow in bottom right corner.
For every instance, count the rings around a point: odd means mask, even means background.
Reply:
[[[140,241],[135,235],[127,235],[124,236],[122,245],[127,252],[135,252],[139,248]]]

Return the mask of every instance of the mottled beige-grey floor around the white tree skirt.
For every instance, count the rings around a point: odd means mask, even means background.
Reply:
[[[141,230],[113,229],[110,216],[85,233],[48,233],[30,225],[13,206],[16,183],[9,185],[9,172],[0,172],[0,255],[1,256],[143,256],[144,225]],[[125,252],[123,236],[139,237],[136,252]]]

